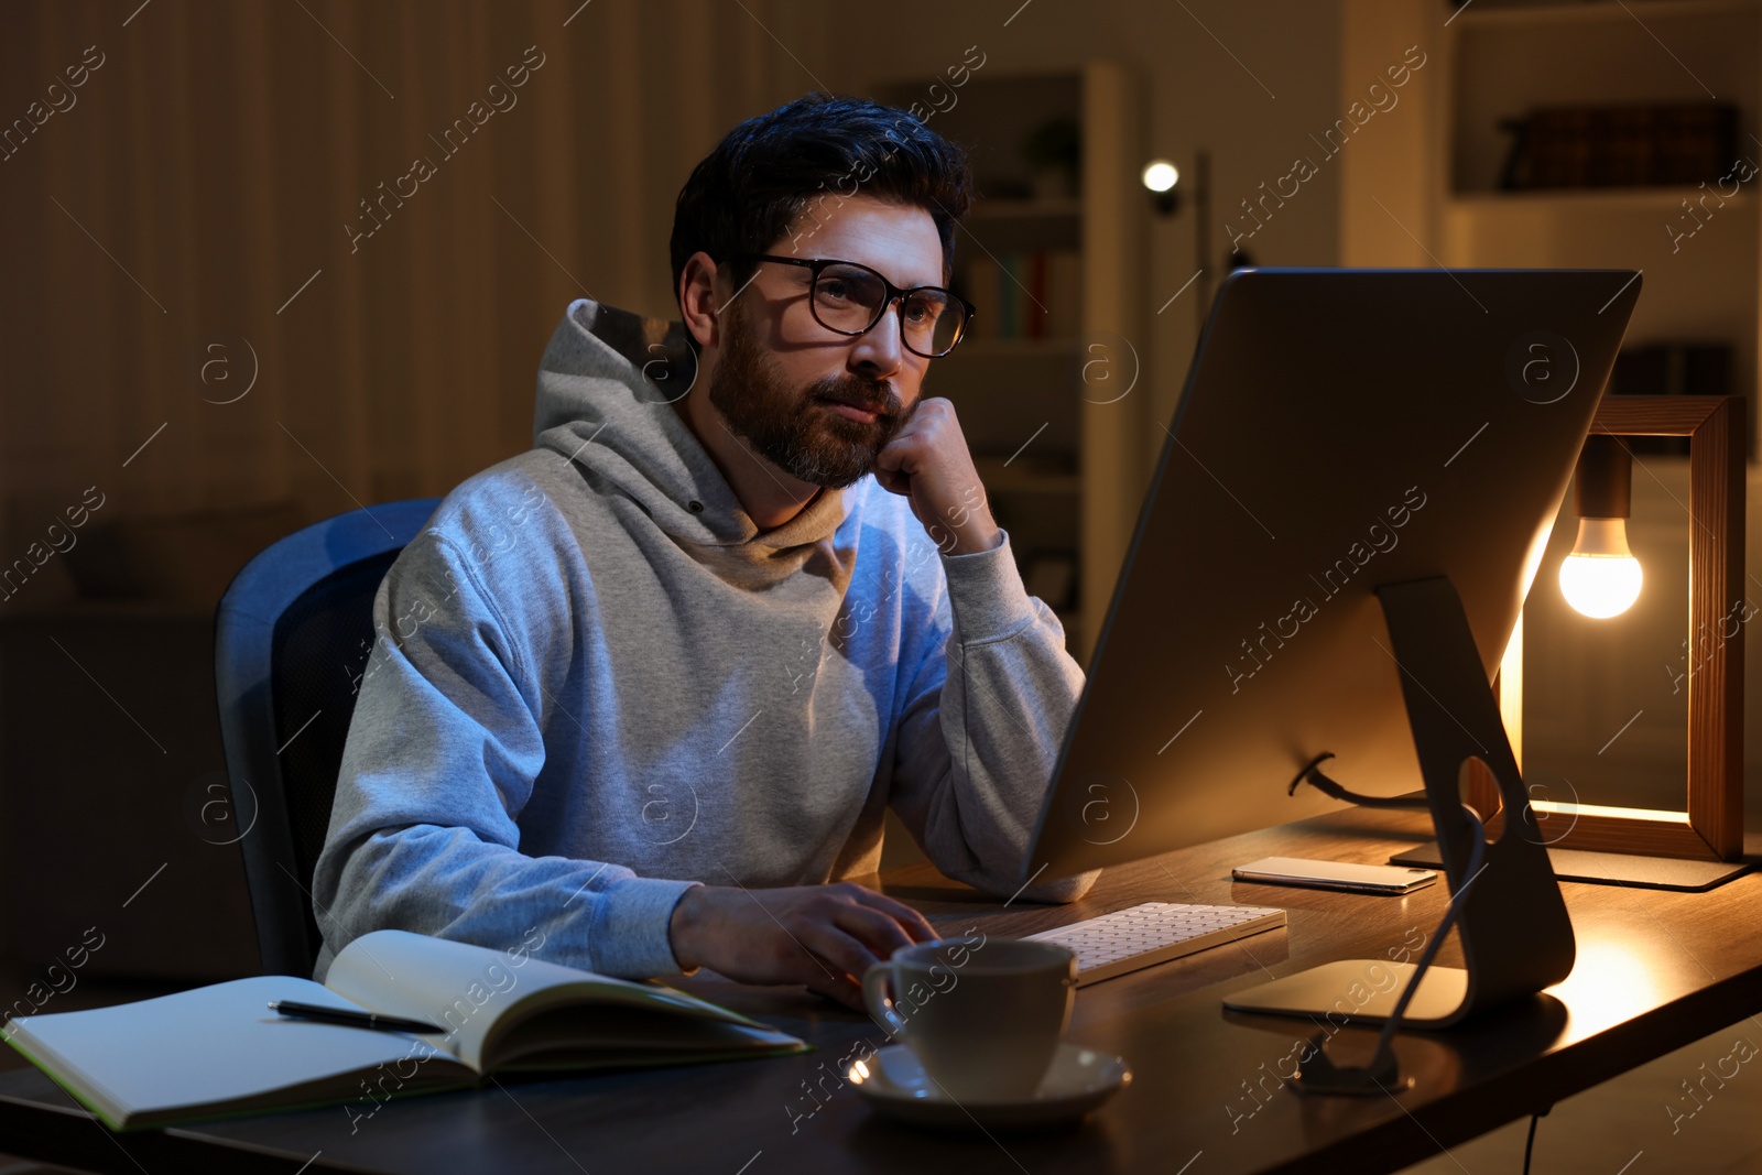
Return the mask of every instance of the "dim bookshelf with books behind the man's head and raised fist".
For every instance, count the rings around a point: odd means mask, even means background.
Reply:
[[[886,83],[876,99],[923,107],[932,85]],[[937,93],[946,104],[946,81]],[[978,314],[930,365],[925,395],[953,402],[1024,583],[1054,606],[1087,668],[1149,477],[1138,460],[1149,396],[1114,391],[1144,361],[1131,342],[1144,336],[1147,229],[1138,79],[1087,62],[974,72],[953,93],[927,123],[973,155],[980,199],[957,234],[951,285]],[[1070,185],[1036,178],[1020,150],[1052,120],[1077,127]]]

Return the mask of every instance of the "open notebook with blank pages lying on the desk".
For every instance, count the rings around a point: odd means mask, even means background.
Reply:
[[[529,934],[530,939],[530,934]],[[492,1073],[689,1064],[807,1050],[655,983],[405,930],[345,946],[324,983],[255,976],[115,1008],[14,1016],[5,1039],[111,1129],[469,1089]],[[296,1020],[270,1001],[446,1025],[405,1034]]]

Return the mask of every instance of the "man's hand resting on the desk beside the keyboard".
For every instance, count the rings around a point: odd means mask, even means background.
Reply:
[[[840,881],[740,890],[692,886],[668,925],[673,958],[740,983],[805,983],[856,1011],[863,972],[900,946],[937,939],[923,914]]]

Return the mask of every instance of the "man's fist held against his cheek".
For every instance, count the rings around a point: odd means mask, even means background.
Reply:
[[[920,400],[911,419],[876,456],[883,490],[911,499],[911,513],[944,555],[988,551],[1003,532],[990,516],[955,405]]]

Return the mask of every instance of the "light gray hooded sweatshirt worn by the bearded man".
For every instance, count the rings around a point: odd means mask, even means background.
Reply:
[[[1084,675],[1008,534],[943,555],[872,476],[759,532],[670,403],[691,372],[682,324],[571,303],[536,447],[381,581],[317,979],[382,927],[677,974],[680,893],[872,874],[885,805],[946,876],[1020,886]]]

